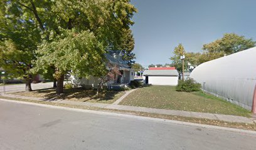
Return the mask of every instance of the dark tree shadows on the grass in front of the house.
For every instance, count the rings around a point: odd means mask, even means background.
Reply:
[[[64,93],[57,95],[54,88],[38,89],[34,91],[38,94],[43,94],[45,101],[56,101],[56,99],[78,99],[86,102],[92,99],[96,101],[109,101],[115,98],[115,95],[120,91],[102,91],[96,96],[97,91],[93,89],[73,88],[64,89]]]

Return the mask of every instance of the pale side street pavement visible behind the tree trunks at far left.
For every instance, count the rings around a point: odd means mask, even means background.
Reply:
[[[53,83],[31,83],[32,89],[44,89],[44,88],[52,88]],[[6,93],[14,93],[25,91],[26,84],[11,84],[5,86]],[[4,86],[0,86],[0,94],[4,92]]]

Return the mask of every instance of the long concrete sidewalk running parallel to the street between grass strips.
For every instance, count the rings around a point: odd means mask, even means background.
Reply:
[[[242,116],[232,116],[232,115],[225,115],[225,114],[210,114],[210,113],[197,113],[197,112],[191,112],[191,111],[143,108],[143,107],[137,107],[137,106],[118,105],[115,103],[103,104],[103,103],[67,101],[65,99],[42,99],[42,98],[33,98],[28,96],[18,96],[13,94],[4,94],[3,96],[8,98],[29,99],[34,101],[50,101],[53,103],[72,104],[77,106],[88,106],[88,107],[116,109],[116,110],[124,110],[124,111],[137,111],[137,112],[144,112],[144,113],[167,114],[172,116],[184,116],[184,117],[190,117],[190,118],[212,119],[212,120],[227,121],[232,123],[247,123],[247,124],[255,123],[255,120],[253,120],[252,118],[245,118]]]

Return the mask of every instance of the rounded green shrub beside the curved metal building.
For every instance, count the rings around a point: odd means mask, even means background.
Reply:
[[[201,84],[196,83],[195,80],[188,78],[186,80],[180,80],[178,85],[176,86],[176,91],[181,91],[181,92],[193,92],[193,91],[200,91],[201,89]]]

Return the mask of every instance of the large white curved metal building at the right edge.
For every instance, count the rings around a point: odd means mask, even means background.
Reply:
[[[206,92],[256,113],[256,47],[200,64],[190,77]]]

